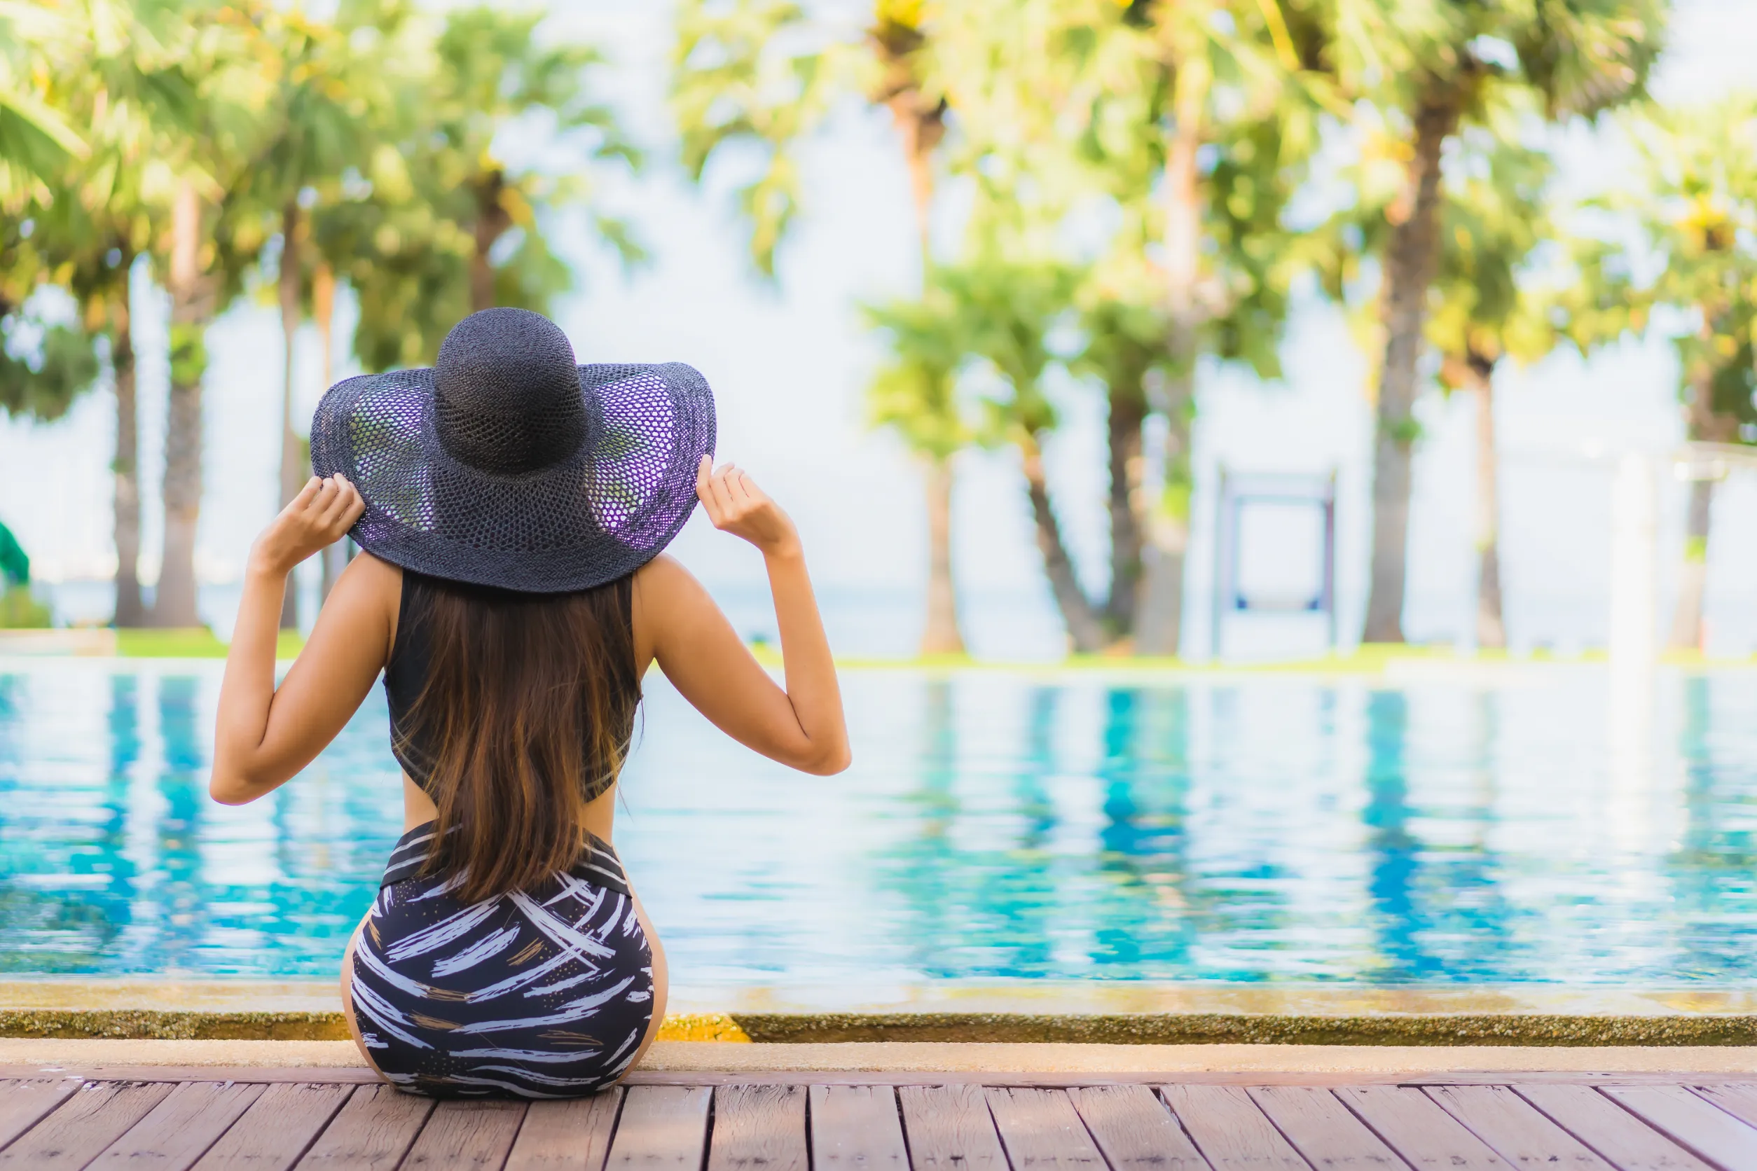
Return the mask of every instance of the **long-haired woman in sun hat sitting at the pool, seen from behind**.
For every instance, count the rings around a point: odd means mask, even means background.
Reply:
[[[318,406],[316,476],[251,546],[209,792],[274,792],[383,672],[406,832],[341,992],[365,1060],[404,1090],[589,1094],[652,1043],[664,952],[610,844],[650,664],[756,751],[849,765],[799,535],[712,449],[699,374],[576,367],[520,309],[460,321],[430,370]],[[662,555],[698,499],[764,557],[785,690]],[[364,555],[276,686],[286,576],[343,534]]]

